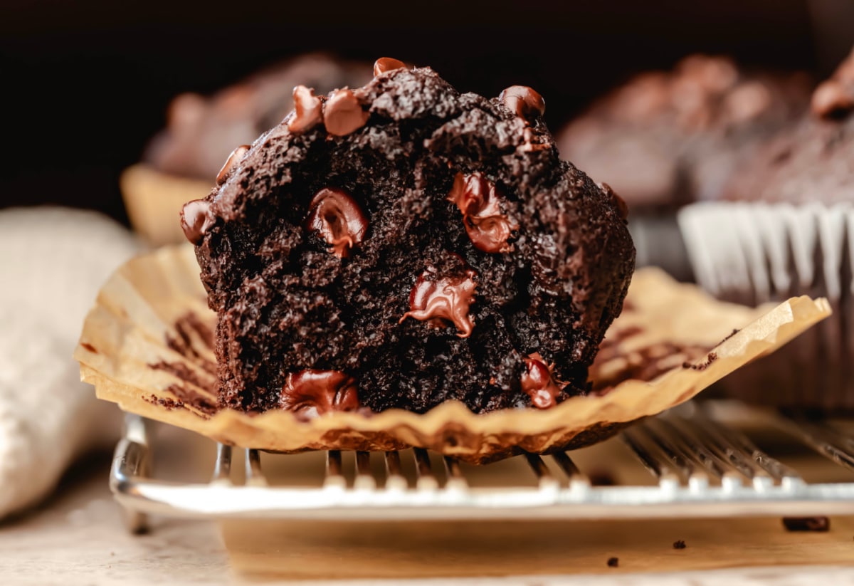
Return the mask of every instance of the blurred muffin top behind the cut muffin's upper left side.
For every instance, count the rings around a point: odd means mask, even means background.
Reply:
[[[295,85],[326,92],[369,79],[367,63],[312,53],[254,73],[211,97],[181,94],[169,104],[167,127],[151,140],[143,161],[162,173],[213,182],[231,149],[251,143],[294,108]]]

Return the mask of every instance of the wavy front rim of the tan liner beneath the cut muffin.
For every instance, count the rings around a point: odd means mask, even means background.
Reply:
[[[443,425],[453,423],[464,425],[467,431],[484,435],[516,433],[533,436],[547,431],[553,432],[556,429],[583,431],[603,423],[629,423],[635,419],[661,413],[667,408],[687,401],[708,385],[744,366],[747,362],[768,354],[771,349],[780,348],[831,313],[826,298],[812,300],[808,296],[793,297],[746,325],[733,337],[717,344],[710,350],[710,354],[717,355],[717,359],[711,360],[701,370],[676,366],[652,381],[629,379],[617,384],[605,394],[571,397],[547,410],[504,409],[483,414],[472,413],[459,401],[446,401],[427,413],[390,409],[370,416],[360,413],[328,413],[317,419],[302,421],[285,411],[249,415],[234,409],[223,409],[209,419],[203,419],[196,413],[184,409],[170,410],[152,404],[146,398],[146,395],[151,395],[147,391],[102,375],[85,363],[86,351],[80,346],[75,350],[74,357],[80,362],[81,380],[95,385],[98,398],[117,403],[123,411],[178,425],[204,436],[218,438],[219,441],[228,442],[232,434],[227,431],[233,425],[272,434],[280,431],[282,425],[287,425],[290,433],[299,430],[301,435],[314,437],[329,431],[381,433],[392,432],[401,427],[408,427],[413,431],[429,435],[440,431]],[[777,325],[762,335],[769,321],[776,322]],[[757,337],[756,334],[759,336]],[[704,357],[695,362],[701,364],[705,360]],[[684,382],[678,386],[686,392],[675,397],[675,401],[672,399],[661,401],[660,399],[664,397],[656,396],[656,390],[665,385],[670,387],[680,378],[684,378]],[[705,383],[699,387],[694,386],[693,383],[698,379],[705,380]],[[598,416],[594,417],[597,413]],[[240,444],[234,443],[234,445]],[[241,447],[265,449],[263,445]]]

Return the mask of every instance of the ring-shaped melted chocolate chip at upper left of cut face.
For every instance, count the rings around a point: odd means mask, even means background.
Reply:
[[[308,229],[317,232],[340,258],[362,242],[367,228],[365,214],[345,190],[326,187],[309,204]]]

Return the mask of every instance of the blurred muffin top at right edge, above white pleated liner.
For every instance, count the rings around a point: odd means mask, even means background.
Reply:
[[[816,87],[809,112],[739,167],[725,198],[854,202],[854,50]]]

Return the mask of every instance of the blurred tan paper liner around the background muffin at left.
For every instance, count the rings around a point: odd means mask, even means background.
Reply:
[[[184,203],[201,199],[213,188],[213,182],[161,173],[145,163],[125,169],[120,179],[131,226],[155,246],[185,241],[178,222]]]

